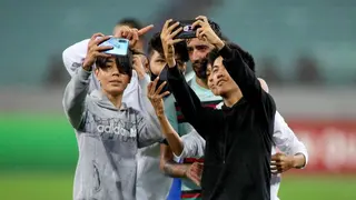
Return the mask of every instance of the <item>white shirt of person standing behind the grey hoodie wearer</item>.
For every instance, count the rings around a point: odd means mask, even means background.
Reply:
[[[62,53],[65,67],[69,74],[72,77],[87,56],[89,39],[82,40],[67,48]],[[93,66],[95,68],[95,66]],[[147,76],[146,78],[149,79]],[[99,81],[92,73],[90,77],[89,93],[96,89],[100,89]],[[127,86],[122,102],[128,107],[138,110],[142,116],[147,116],[147,104],[142,101],[141,93],[146,88],[140,88],[138,83],[138,76],[136,71],[132,71],[132,78],[130,83]],[[172,179],[166,177],[159,171],[159,143],[155,143],[150,147],[140,149],[137,153],[137,184],[136,184],[136,199],[139,200],[165,200]]]

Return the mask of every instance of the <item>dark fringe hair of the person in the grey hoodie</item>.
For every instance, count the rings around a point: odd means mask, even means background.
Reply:
[[[108,58],[98,58],[96,61],[97,68],[106,68],[106,63]],[[132,77],[132,52],[131,50],[128,51],[127,56],[115,56],[116,66],[119,69],[120,73],[128,74]]]

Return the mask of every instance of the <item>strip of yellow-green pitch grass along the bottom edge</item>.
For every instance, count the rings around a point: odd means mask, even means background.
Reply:
[[[73,172],[7,172],[0,173],[1,200],[70,200]],[[281,200],[355,200],[356,176],[286,177]]]

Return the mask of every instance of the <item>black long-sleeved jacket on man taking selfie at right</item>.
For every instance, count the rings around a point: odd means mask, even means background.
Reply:
[[[204,200],[269,200],[275,102],[239,52],[225,46],[224,66],[243,98],[231,108],[204,108],[177,67],[168,83],[187,121],[206,140]]]

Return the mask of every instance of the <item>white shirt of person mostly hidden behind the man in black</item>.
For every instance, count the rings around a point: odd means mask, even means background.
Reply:
[[[221,109],[224,103],[219,103],[216,109]],[[175,161],[179,161],[182,158],[201,158],[204,157],[205,151],[205,140],[200,137],[200,134],[192,130],[188,134],[181,137],[184,143],[184,150],[180,156],[174,154]],[[298,140],[293,130],[285,122],[284,118],[280,116],[278,111],[276,111],[275,116],[275,129],[273,134],[273,140],[276,147],[273,147],[271,154],[277,152],[276,148],[279,151],[291,156],[297,153],[303,153],[306,158],[306,164],[308,162],[308,152],[306,147],[301,141]],[[279,200],[278,190],[280,186],[280,174],[271,174],[270,179],[270,199]]]

